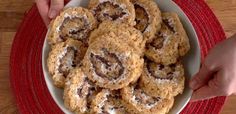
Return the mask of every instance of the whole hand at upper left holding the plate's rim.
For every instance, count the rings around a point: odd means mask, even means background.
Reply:
[[[35,2],[46,26],[64,7],[64,0],[35,0]]]

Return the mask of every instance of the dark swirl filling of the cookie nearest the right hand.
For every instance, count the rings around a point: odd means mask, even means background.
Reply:
[[[161,80],[172,80],[175,72],[175,64],[164,66],[147,60],[146,68],[150,76]]]

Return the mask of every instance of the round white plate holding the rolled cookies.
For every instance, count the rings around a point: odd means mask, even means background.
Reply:
[[[179,15],[180,20],[183,23],[184,28],[188,34],[190,45],[191,45],[190,52],[184,58],[184,67],[186,70],[185,89],[184,89],[183,94],[178,95],[175,98],[174,106],[170,111],[170,114],[177,114],[186,106],[186,104],[188,103],[192,95],[192,91],[188,87],[188,82],[189,82],[189,79],[199,70],[200,48],[199,48],[196,32],[190,20],[184,14],[184,12],[178,7],[178,5],[176,5],[172,0],[156,0],[156,2],[158,3],[161,11],[176,12]],[[88,4],[88,0],[71,0],[65,7],[76,7],[76,6],[86,7],[87,4]],[[58,89],[53,85],[51,76],[48,72],[46,60],[47,60],[49,51],[50,51],[50,46],[48,45],[47,40],[45,40],[44,46],[43,46],[43,54],[42,54],[42,65],[43,65],[43,73],[44,73],[44,78],[45,78],[47,87],[49,89],[51,96],[53,97],[57,105],[60,107],[60,109],[66,114],[71,114],[72,112],[67,110],[64,106],[63,97],[62,97],[63,90]]]

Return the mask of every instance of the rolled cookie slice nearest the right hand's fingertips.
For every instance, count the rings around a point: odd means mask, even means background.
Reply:
[[[139,84],[151,96],[171,98],[183,92],[184,80],[184,68],[180,62],[165,66],[145,60]]]

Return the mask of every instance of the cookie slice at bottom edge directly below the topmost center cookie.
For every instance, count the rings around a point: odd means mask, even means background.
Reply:
[[[120,93],[103,89],[92,102],[94,114],[128,114]]]

